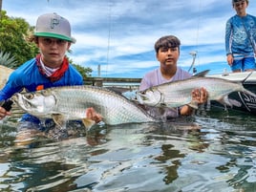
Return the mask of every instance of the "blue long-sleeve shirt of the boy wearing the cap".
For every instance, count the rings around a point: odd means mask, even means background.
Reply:
[[[45,75],[40,74],[38,67],[36,66],[36,60],[35,58],[32,58],[12,72],[5,87],[0,91],[0,101],[7,100],[15,93],[22,91],[24,88],[29,92],[34,92],[38,88],[47,89],[50,87],[82,84],[82,75],[80,75],[72,65],[69,65],[68,70],[59,80],[52,82]],[[22,120],[32,121],[35,123],[40,122],[38,118],[29,114],[25,114],[22,117]]]

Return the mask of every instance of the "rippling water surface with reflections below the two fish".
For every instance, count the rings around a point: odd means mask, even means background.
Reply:
[[[2,191],[256,191],[256,117],[212,110],[17,145],[0,122]]]

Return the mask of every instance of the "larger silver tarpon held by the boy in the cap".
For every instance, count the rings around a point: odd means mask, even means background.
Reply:
[[[102,87],[54,87],[33,93],[17,93],[12,100],[32,116],[51,117],[60,126],[68,119],[82,119],[86,127],[91,127],[94,123],[86,117],[86,109],[90,107],[109,125],[156,121],[125,96]]]

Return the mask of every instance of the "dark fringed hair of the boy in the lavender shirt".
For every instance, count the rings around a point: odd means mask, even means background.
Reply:
[[[174,35],[166,35],[160,37],[159,40],[155,43],[155,51],[159,52],[160,48],[176,48],[180,50],[181,41],[178,37]]]

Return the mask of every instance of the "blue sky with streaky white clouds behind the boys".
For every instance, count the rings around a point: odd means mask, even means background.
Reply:
[[[2,10],[31,26],[44,13],[67,18],[76,39],[67,55],[92,76],[142,77],[160,66],[154,44],[169,34],[181,40],[182,69],[189,70],[196,53],[198,72],[230,72],[224,30],[235,14],[231,0],[3,0]],[[255,10],[250,1],[247,13]]]

